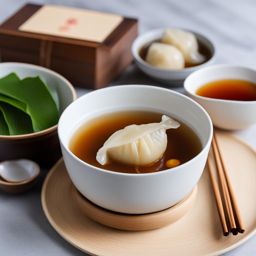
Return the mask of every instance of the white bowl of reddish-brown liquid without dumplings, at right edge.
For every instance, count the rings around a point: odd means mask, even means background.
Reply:
[[[215,65],[191,74],[185,80],[184,88],[191,98],[206,109],[214,126],[227,130],[241,130],[255,124],[256,101],[212,99],[196,94],[202,85],[221,79],[240,79],[255,83],[256,70],[234,65]]]

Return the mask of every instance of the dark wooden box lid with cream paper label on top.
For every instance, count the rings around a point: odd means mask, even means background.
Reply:
[[[62,27],[58,25],[60,30],[51,29],[49,32],[51,34],[46,34],[46,27],[40,27],[40,22],[38,23],[38,21],[40,21],[43,16],[47,17],[47,14],[51,15],[56,11],[64,17],[68,17],[68,13],[71,13],[73,17],[75,16],[76,18],[68,19],[66,24],[62,24]],[[82,40],[82,38],[85,37],[84,35],[79,34],[79,27],[77,31],[75,31],[72,26],[76,25],[75,23],[77,20],[79,20],[79,17],[82,19],[81,22],[86,22],[86,19],[84,19],[86,15],[94,16],[95,19],[93,22],[95,23],[96,21],[96,23],[98,23],[98,28],[100,26],[100,22],[101,24],[108,23],[108,26],[104,24],[104,31],[108,30],[109,33],[105,33],[105,37],[104,35],[101,36],[99,33],[96,33],[95,35],[93,28],[89,27],[87,30],[90,34],[90,36],[88,36],[88,40]],[[95,17],[95,15],[97,17]],[[35,32],[36,22],[39,24],[38,33]],[[58,22],[60,23],[60,19],[57,19],[54,22],[58,24]],[[99,46],[112,47],[123,36],[127,29],[133,26],[136,22],[136,19],[126,18],[119,15],[98,13],[89,10],[83,11],[82,9],[74,9],[69,7],[26,4],[0,26],[0,33],[52,42],[91,46],[95,48]],[[72,27],[72,32],[75,31],[73,34],[68,34],[67,31],[61,31],[61,29],[68,29],[68,26]],[[61,36],[62,34],[63,36]]]

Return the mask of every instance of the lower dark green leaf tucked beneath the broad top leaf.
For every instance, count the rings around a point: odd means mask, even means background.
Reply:
[[[6,103],[0,103],[0,111],[3,114],[10,135],[27,134],[33,132],[29,115]]]

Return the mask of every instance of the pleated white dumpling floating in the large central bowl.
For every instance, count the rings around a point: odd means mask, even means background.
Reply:
[[[162,116],[160,123],[129,125],[113,133],[98,152],[96,159],[101,165],[111,161],[145,166],[158,161],[167,147],[167,129],[180,124]]]

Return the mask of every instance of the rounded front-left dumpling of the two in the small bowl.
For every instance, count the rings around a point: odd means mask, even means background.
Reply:
[[[177,48],[161,43],[150,45],[146,62],[163,69],[182,69],[185,66],[184,57]]]

